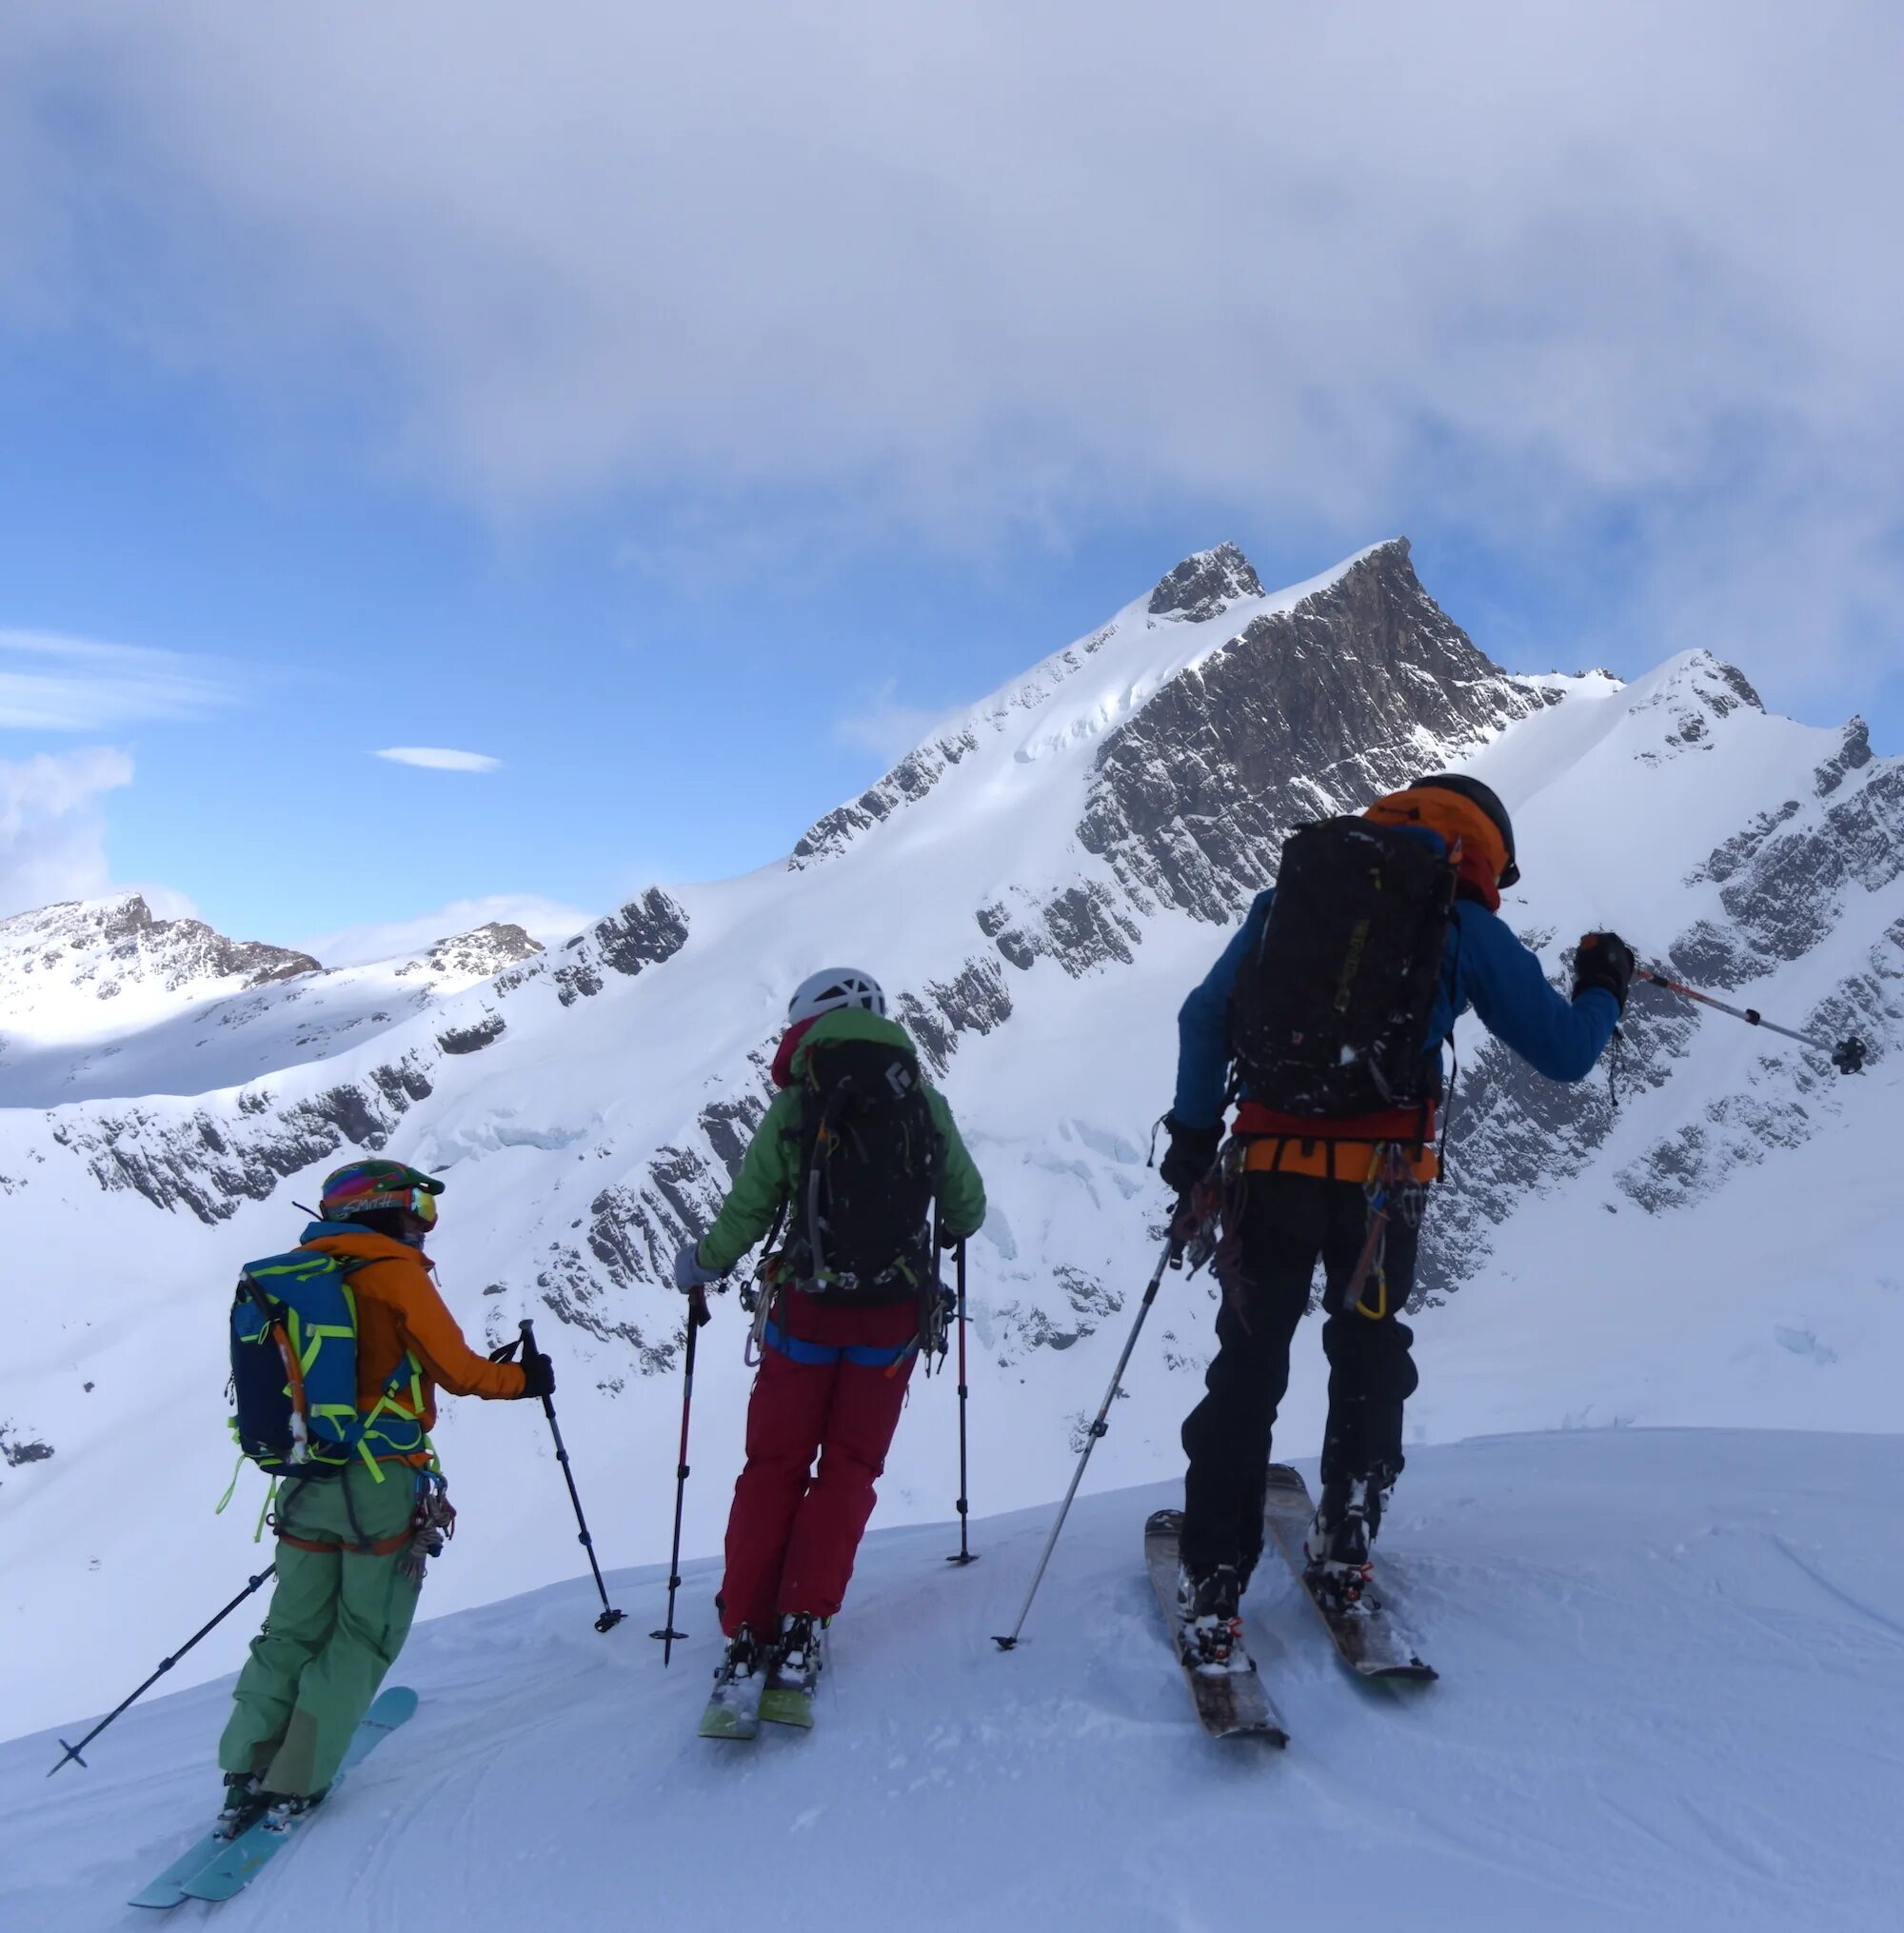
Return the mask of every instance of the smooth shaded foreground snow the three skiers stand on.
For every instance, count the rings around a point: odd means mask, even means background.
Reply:
[[[1247,1601],[1289,1749],[1191,1718],[1139,1558],[1171,1490],[1084,1498],[1023,1649],[990,1635],[1048,1525],[870,1539],[810,1736],[707,1744],[713,1568],[663,1672],[661,1573],[419,1626],[418,1717],[240,1900],[244,1929],[472,1933],[767,1918],[1104,1933],[1881,1927],[1904,1890],[1904,1442],[1579,1430],[1430,1450],[1382,1535],[1440,1684],[1363,1688],[1276,1560]],[[215,1803],[224,1688],[135,1711],[95,1769],[0,1747],[0,1923],[118,1906]]]

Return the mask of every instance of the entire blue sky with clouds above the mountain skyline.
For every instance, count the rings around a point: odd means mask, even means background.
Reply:
[[[762,864],[1224,537],[1904,748],[1900,27],[1657,12],[10,12],[0,912]]]

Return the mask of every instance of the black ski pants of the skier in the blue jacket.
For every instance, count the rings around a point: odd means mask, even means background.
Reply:
[[[1216,1361],[1204,1399],[1183,1423],[1183,1566],[1198,1575],[1235,1564],[1245,1581],[1262,1556],[1262,1485],[1270,1430],[1289,1388],[1289,1343],[1309,1309],[1322,1262],[1324,1309],[1336,1311],[1369,1233],[1369,1202],[1353,1181],[1318,1175],[1245,1173],[1226,1227],[1224,1307],[1216,1316]],[[1417,1229],[1392,1218],[1384,1237],[1388,1307],[1407,1305],[1415,1284]],[[1372,1301],[1370,1282],[1365,1297]],[[1401,1471],[1401,1405],[1421,1380],[1409,1345],[1415,1332],[1394,1313],[1349,1311],[1322,1324],[1328,1357],[1328,1428],[1322,1483],[1372,1477],[1386,1488]]]

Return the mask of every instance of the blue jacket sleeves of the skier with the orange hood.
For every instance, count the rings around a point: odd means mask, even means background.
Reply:
[[[1256,895],[1241,930],[1177,1013],[1177,1098],[1171,1113],[1185,1127],[1216,1127],[1222,1119],[1229,1081],[1229,994],[1243,961],[1262,939],[1274,897],[1274,887]],[[1620,1001],[1612,994],[1597,986],[1575,1001],[1556,994],[1541,972],[1541,961],[1514,938],[1508,922],[1463,899],[1448,922],[1442,986],[1423,1046],[1436,1065],[1442,1042],[1469,1007],[1496,1040],[1504,1040],[1548,1081],[1585,1081],[1620,1024]],[[1249,1094],[1243,1098],[1249,1100]]]

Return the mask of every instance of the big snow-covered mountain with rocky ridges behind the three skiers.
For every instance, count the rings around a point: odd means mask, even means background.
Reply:
[[[1767,1013],[1856,1023],[1877,1059],[1838,1082],[1637,994],[1614,1110],[1602,1077],[1554,1088],[1467,1028],[1413,1440],[1579,1417],[1885,1421],[1885,1353],[1904,1345],[1887,1053],[1904,765],[1856,721],[1767,717],[1705,653],[1630,688],[1512,678],[1401,541],[1282,593],[1226,547],[949,721],[781,866],[655,887],[566,947],[408,1003],[392,970],[305,974],[114,1036],[104,1061],[46,1042],[48,1082],[77,1067],[87,1084],[0,1088],[17,1096],[0,1212],[23,1284],[0,1367],[0,1709],[50,1722],[99,1680],[131,1682],[155,1631],[189,1630],[242,1573],[249,1546],[209,1515],[228,1475],[224,1299],[360,1146],[447,1175],[433,1253],[450,1303],[483,1342],[537,1318],[597,1541],[663,1554],[667,1258],[760,1117],[787,990],[827,961],[897,995],[992,1189],[972,1245],[974,1494],[1052,1494],[1148,1272],[1162,1197],[1144,1142],[1185,988],[1291,823],[1448,764],[1515,806],[1527,885],[1508,916],[1556,974],[1573,936],[1612,924]],[[222,1013],[230,1026],[209,1021]],[[748,1380],[721,1313],[696,1399],[698,1550],[717,1543]],[[1096,1481],[1173,1469],[1210,1314],[1202,1282],[1173,1280]],[[1305,1359],[1291,1452],[1314,1440],[1318,1386]],[[920,1388],[912,1411],[887,1521],[951,1500],[949,1390]],[[464,1517],[431,1606],[566,1573],[572,1531],[526,1471],[539,1417],[452,1405],[441,1446]],[[255,1510],[259,1490],[240,1494]]]

